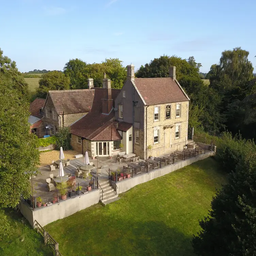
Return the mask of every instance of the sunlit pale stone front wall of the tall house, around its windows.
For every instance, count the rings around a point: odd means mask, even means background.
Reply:
[[[176,103],[171,104],[159,104],[160,106],[160,118],[159,121],[154,121],[154,107],[149,106],[147,108],[147,146],[152,145],[152,155],[159,156],[161,154],[169,154],[174,150],[181,150],[188,140],[188,111],[189,101],[180,102],[181,104],[181,116],[176,117]],[[165,119],[165,107],[171,105],[171,118]],[[146,107],[145,107],[146,108]],[[146,113],[146,111],[144,111]],[[145,115],[146,119],[146,115]],[[144,122],[146,124],[146,120]],[[180,124],[180,136],[175,139],[175,125]],[[168,128],[164,128],[164,126]],[[160,129],[160,141],[154,144],[154,128]],[[146,130],[146,127],[145,127]],[[170,136],[169,136],[169,134]],[[167,143],[169,142],[169,143]],[[146,143],[146,139],[145,139]],[[146,145],[145,145],[146,148]],[[147,157],[149,156],[148,152]]]

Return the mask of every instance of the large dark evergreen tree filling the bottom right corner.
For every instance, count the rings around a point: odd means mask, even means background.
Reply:
[[[202,230],[193,236],[197,255],[255,255],[256,251],[256,153],[244,156],[218,191]]]

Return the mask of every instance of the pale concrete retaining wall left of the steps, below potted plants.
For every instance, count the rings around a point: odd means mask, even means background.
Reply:
[[[55,203],[35,210],[33,210],[27,202],[21,201],[20,211],[32,227],[35,227],[35,220],[37,220],[41,226],[45,226],[48,223],[68,217],[97,203],[99,203],[99,189],[81,194],[81,196],[77,195],[67,198],[66,200],[60,201],[59,204]]]

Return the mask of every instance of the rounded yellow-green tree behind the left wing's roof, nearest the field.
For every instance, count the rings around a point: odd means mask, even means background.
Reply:
[[[56,70],[42,75],[39,80],[37,95],[41,98],[46,98],[50,90],[68,90],[70,80],[63,73]]]

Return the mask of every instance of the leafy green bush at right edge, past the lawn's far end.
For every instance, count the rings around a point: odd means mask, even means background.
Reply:
[[[221,133],[217,143],[216,159],[220,162],[223,170],[227,173],[235,171],[236,166],[251,152],[256,151],[256,145],[251,140],[241,138],[241,135],[235,135],[229,132]]]

